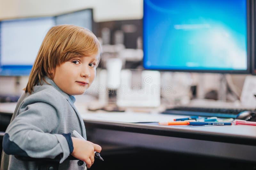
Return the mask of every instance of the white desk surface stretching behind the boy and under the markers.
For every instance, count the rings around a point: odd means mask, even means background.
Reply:
[[[137,123],[137,122],[168,122],[175,118],[188,117],[188,115],[163,115],[157,111],[150,113],[143,112],[92,112],[86,110],[86,105],[75,103],[82,118],[87,121],[115,122],[115,123]],[[0,112],[13,113],[16,103],[0,103]],[[159,125],[141,124],[148,127],[159,127]],[[161,128],[185,129],[188,131],[201,131],[214,134],[226,134],[237,137],[256,138],[256,126],[231,125],[231,126],[161,126]]]

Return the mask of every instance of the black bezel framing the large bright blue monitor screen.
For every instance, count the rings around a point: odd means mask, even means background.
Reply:
[[[143,16],[145,12],[145,0],[143,0]],[[247,69],[246,70],[177,70],[177,69],[148,69],[145,65],[145,57],[143,56],[143,68],[144,70],[158,70],[158,71],[173,71],[173,72],[197,72],[197,73],[229,73],[229,74],[250,74],[251,73],[251,35],[252,35],[252,0],[246,0],[246,18],[247,18]],[[143,51],[145,51],[145,35],[144,35],[144,21],[143,17]],[[145,53],[144,53],[145,54]]]

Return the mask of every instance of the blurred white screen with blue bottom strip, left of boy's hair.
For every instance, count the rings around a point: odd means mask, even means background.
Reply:
[[[54,17],[0,22],[0,75],[28,76]]]

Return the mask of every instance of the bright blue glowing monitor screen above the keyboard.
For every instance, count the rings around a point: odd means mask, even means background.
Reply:
[[[144,0],[143,66],[247,73],[246,0]]]

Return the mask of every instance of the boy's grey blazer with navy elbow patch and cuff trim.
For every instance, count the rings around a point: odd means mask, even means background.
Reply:
[[[75,98],[63,92],[50,78],[34,92],[23,93],[3,139],[1,170],[37,170],[35,162],[24,162],[14,155],[55,158],[61,155],[59,169],[84,169],[78,160],[65,160],[73,152],[71,135],[76,130],[86,139]]]

